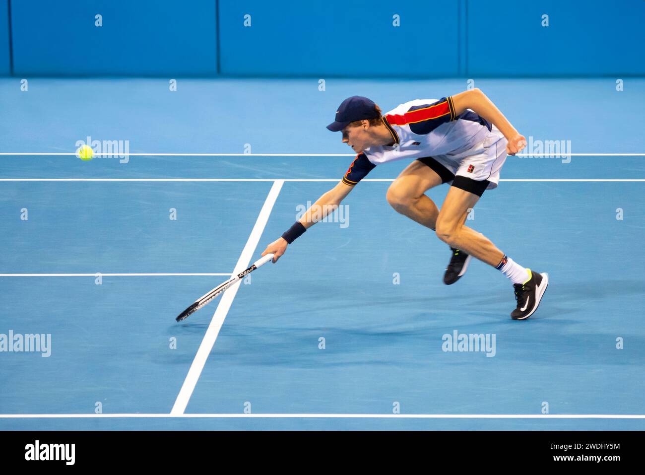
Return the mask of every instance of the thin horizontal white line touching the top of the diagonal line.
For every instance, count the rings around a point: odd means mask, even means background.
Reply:
[[[341,181],[340,178],[0,178],[0,181]],[[394,181],[394,178],[364,178]],[[502,178],[499,181],[645,181],[645,178]]]

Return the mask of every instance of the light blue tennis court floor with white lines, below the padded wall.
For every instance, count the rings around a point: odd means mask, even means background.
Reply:
[[[395,105],[401,88],[461,87],[181,85],[173,96],[154,79],[34,79],[21,94],[0,81],[0,333],[50,335],[48,356],[1,355],[1,427],[643,428],[645,166],[629,154],[645,151],[630,107],[645,103],[645,81],[617,94],[606,79],[577,80],[573,97],[566,80],[479,84],[531,136],[571,141],[570,157],[508,157],[468,223],[550,273],[526,321],[509,318],[512,288],[482,263],[443,285],[446,245],[385,199],[402,161],[377,167],[335,217],[250,274],[225,312],[216,300],[175,323],[337,183],[353,155],[320,125],[343,97]],[[513,100],[522,91],[531,96]],[[575,112],[590,102],[602,121]],[[222,119],[235,108],[244,115]],[[127,163],[81,161],[70,143],[86,136],[126,137]],[[447,189],[429,195],[441,206]],[[495,336],[494,347],[446,352],[453,332]]]

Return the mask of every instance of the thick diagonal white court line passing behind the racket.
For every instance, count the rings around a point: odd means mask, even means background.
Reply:
[[[242,254],[240,254],[239,259],[237,259],[237,264],[235,264],[235,268],[233,269],[232,274],[239,274],[251,263],[251,258],[253,257],[257,243],[260,241],[260,236],[262,236],[266,222],[269,219],[269,215],[271,214],[271,210],[273,209],[273,205],[275,205],[275,200],[277,199],[278,194],[283,187],[283,184],[284,182],[282,180],[275,180],[273,182],[273,186],[271,187],[271,190],[266,197],[266,200],[264,201],[264,205],[260,210],[260,214],[257,216],[257,221],[255,221],[253,230],[251,231],[251,234],[246,241],[246,245],[244,245]],[[197,384],[197,379],[199,379],[199,375],[201,374],[202,370],[204,369],[204,365],[206,364],[206,359],[208,359],[208,355],[213,349],[215,339],[217,339],[217,335],[219,334],[219,330],[224,323],[226,314],[228,314],[228,309],[231,308],[233,299],[235,298],[235,294],[237,294],[237,289],[239,288],[240,283],[241,281],[237,281],[237,283],[224,290],[224,294],[222,294],[219,304],[215,309],[213,318],[210,321],[210,325],[208,325],[208,328],[206,329],[206,334],[204,334],[201,345],[199,345],[199,350],[197,350],[195,359],[193,360],[192,365],[190,365],[188,375],[186,375],[186,379],[181,386],[181,390],[177,395],[177,399],[175,400],[175,404],[173,405],[170,414],[183,414],[184,410],[186,410],[190,396],[192,396],[195,385]]]

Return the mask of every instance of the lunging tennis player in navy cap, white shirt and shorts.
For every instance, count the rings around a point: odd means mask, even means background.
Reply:
[[[537,310],[548,274],[519,265],[483,234],[465,225],[469,210],[484,190],[497,188],[506,155],[515,155],[526,145],[524,136],[481,90],[467,90],[438,101],[415,99],[384,116],[367,97],[348,97],[327,128],[342,131],[342,142],[357,156],[341,181],[268,245],[263,256],[273,252],[273,261],[277,261],[294,239],[335,210],[377,165],[415,159],[393,181],[386,197],[397,212],[434,230],[450,246],[444,283],[459,280],[474,257],[510,279],[517,300],[511,318],[526,319]],[[425,192],[442,183],[451,186],[439,210]]]

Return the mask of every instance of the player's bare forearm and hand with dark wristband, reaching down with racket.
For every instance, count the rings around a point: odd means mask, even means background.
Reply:
[[[270,245],[264,249],[262,253],[263,256],[269,253],[275,254],[273,257],[273,262],[277,260],[284,254],[286,247],[293,242],[293,239],[296,239],[298,236],[303,234],[307,228],[312,227],[314,223],[321,221],[325,216],[334,212],[341,201],[350,194],[353,187],[338,182],[338,185],[333,187],[331,190],[319,197],[315,203],[303,214],[303,217],[299,221],[287,230],[280,238],[273,241]]]

